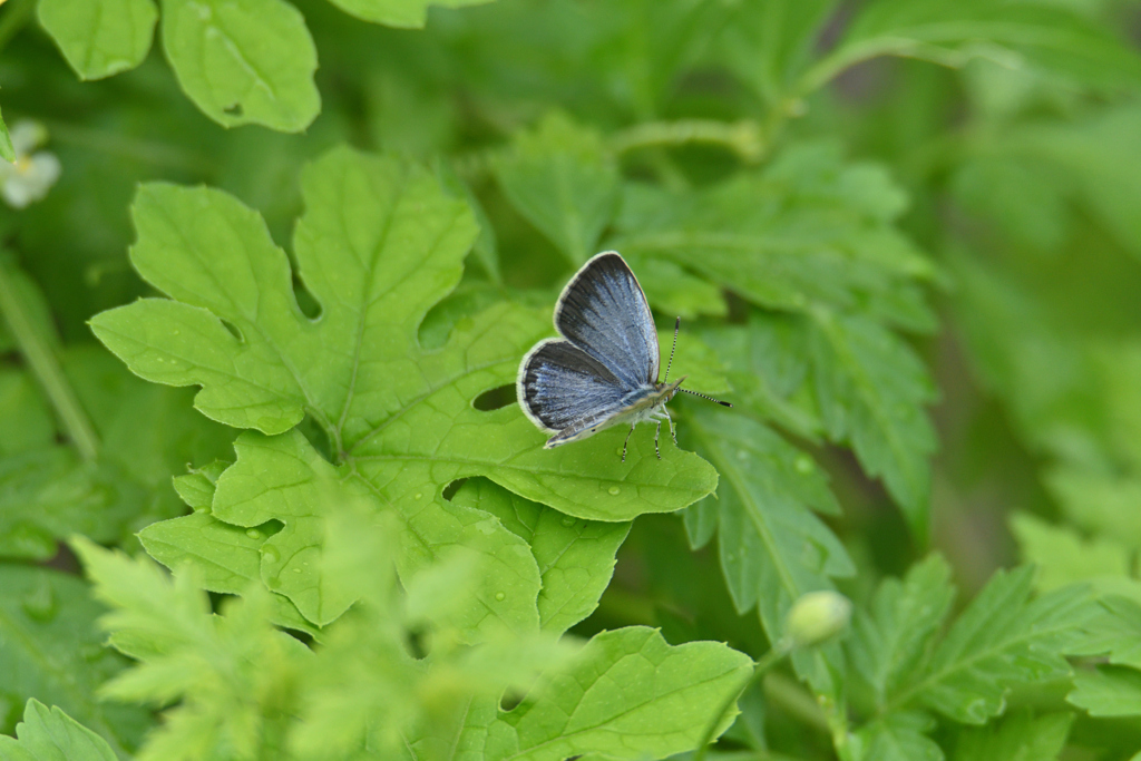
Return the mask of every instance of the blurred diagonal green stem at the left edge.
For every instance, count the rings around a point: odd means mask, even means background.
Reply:
[[[8,257],[0,258],[0,315],[8,323],[32,374],[51,400],[67,437],[84,460],[95,460],[99,454],[99,438],[64,377],[49,338],[35,324],[27,289],[18,282],[22,275]]]

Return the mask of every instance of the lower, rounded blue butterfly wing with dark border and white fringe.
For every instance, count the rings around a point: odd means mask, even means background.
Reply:
[[[605,421],[630,394],[606,365],[574,343],[547,339],[523,359],[519,405],[540,428],[561,431],[585,420]]]

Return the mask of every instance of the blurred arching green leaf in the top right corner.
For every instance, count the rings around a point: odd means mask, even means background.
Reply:
[[[1061,8],[990,0],[876,0],[860,9],[840,42],[804,73],[800,92],[884,55],[954,67],[985,57],[1111,89],[1141,82],[1141,57],[1100,26]]]

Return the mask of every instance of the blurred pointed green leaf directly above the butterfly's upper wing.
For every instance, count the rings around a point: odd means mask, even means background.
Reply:
[[[511,205],[576,267],[598,252],[618,205],[620,177],[598,133],[559,113],[519,132],[495,161]]]

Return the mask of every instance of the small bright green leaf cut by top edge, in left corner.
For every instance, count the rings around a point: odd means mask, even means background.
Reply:
[[[151,50],[152,0],[42,0],[40,24],[80,79],[135,68]]]

